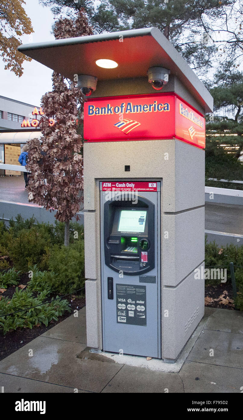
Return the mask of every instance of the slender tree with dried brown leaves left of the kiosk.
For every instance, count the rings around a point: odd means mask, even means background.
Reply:
[[[91,35],[83,10],[75,18],[59,18],[54,23],[56,39]],[[29,142],[26,168],[31,172],[28,199],[65,222],[65,245],[69,244],[69,222],[80,210],[83,189],[82,137],[77,133],[78,115],[83,118],[83,96],[75,83],[53,72],[52,92],[41,98],[44,116],[39,126],[43,133]],[[55,122],[50,125],[49,119]],[[42,154],[41,154],[42,152]],[[44,152],[44,153],[43,153]],[[46,179],[46,181],[44,181]]]

